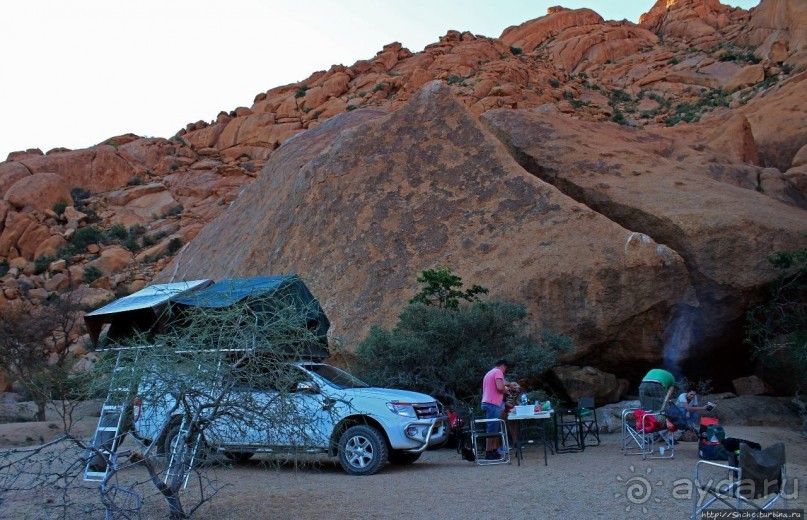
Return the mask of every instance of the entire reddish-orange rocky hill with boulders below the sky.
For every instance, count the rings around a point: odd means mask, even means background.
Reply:
[[[556,7],[391,43],[170,139],[15,152],[0,307],[297,272],[350,349],[447,265],[572,335],[572,362],[747,375],[767,256],[807,242],[805,42],[803,0],[659,0],[638,25]]]

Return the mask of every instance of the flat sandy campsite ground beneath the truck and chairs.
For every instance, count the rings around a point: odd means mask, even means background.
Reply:
[[[52,438],[53,423],[0,425],[0,445],[31,444],[26,439]],[[57,425],[58,426],[58,425]],[[91,434],[92,420],[75,431]],[[807,508],[807,440],[796,430],[726,427],[727,435],[763,446],[782,441],[787,473],[795,484],[787,507]],[[692,508],[692,477],[699,460],[697,443],[676,445],[671,460],[625,456],[619,434],[603,434],[602,444],[584,452],[549,455],[530,447],[522,465],[476,466],[456,451],[426,452],[411,466],[388,465],[371,477],[351,477],[331,459],[316,459],[303,468],[257,460],[232,466],[214,464],[206,476],[215,480],[218,495],[194,518],[204,519],[354,519],[354,518],[687,518]],[[130,441],[127,441],[130,442]],[[716,475],[723,478],[724,474]],[[142,469],[121,472],[121,480],[145,480]],[[93,486],[81,483],[89,499]],[[143,489],[151,489],[145,484]],[[210,488],[206,488],[208,491]],[[184,492],[193,502],[195,481]],[[153,493],[153,491],[151,491]],[[77,495],[76,495],[77,496]],[[18,497],[30,501],[31,497]],[[36,499],[34,499],[36,500]],[[0,504],[0,518],[18,518]],[[165,505],[153,494],[146,498],[144,518],[165,518]],[[38,515],[36,515],[38,516]],[[32,517],[26,515],[26,517]],[[39,516],[41,517],[41,516]],[[92,517],[95,517],[92,515]],[[103,515],[99,513],[98,517]]]

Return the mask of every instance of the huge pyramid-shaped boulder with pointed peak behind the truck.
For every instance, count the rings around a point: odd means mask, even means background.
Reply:
[[[440,83],[288,142],[159,279],[298,272],[352,348],[443,265],[610,365],[658,359],[691,292],[677,254],[524,171]]]

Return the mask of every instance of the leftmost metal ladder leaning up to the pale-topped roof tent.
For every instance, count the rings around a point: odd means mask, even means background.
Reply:
[[[111,469],[110,456],[118,451],[122,440],[121,429],[126,417],[126,408],[133,394],[132,388],[126,385],[126,378],[124,377],[124,380],[121,381],[121,376],[132,374],[134,361],[137,360],[137,351],[134,352],[134,359],[131,357],[131,352],[125,350],[119,351],[115,359],[115,368],[112,370],[109,390],[101,407],[98,426],[95,428],[90,448],[84,453],[87,460],[84,468],[85,481],[104,481]],[[98,451],[101,453],[99,454]]]

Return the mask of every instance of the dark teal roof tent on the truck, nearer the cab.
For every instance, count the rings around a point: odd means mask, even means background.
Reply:
[[[245,302],[257,319],[272,316],[278,306],[290,305],[302,311],[295,316],[299,319],[297,325],[313,332],[319,340],[317,346],[307,346],[302,355],[319,359],[330,355],[328,329],[331,323],[319,301],[296,274],[220,280],[202,290],[173,297],[171,302],[178,307],[178,314],[183,312],[183,307],[217,308]]]

